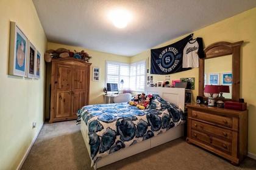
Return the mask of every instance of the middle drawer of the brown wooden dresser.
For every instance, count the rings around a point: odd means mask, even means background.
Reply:
[[[191,120],[191,127],[193,129],[196,129],[197,131],[204,131],[215,134],[228,140],[232,138],[232,131],[212,126],[210,124],[202,123],[200,121]]]

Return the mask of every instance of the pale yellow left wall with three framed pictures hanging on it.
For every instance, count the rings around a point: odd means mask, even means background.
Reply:
[[[10,21],[15,21],[43,55],[47,39],[30,0],[0,1],[0,169],[16,169],[43,125],[44,61],[41,78],[8,75]],[[37,127],[32,129],[32,122]]]

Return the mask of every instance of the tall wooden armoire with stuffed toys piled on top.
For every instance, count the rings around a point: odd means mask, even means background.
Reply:
[[[46,98],[49,96],[51,100],[46,100],[46,118],[49,117],[50,123],[74,120],[77,110],[88,105],[90,66],[91,63],[71,57],[55,59],[48,64]]]

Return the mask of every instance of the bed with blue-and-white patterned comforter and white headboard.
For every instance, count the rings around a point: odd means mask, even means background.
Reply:
[[[147,87],[146,94],[153,94],[146,110],[128,103],[79,110],[80,130],[94,169],[183,136],[185,89]]]

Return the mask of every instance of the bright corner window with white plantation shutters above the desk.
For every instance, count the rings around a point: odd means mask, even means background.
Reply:
[[[146,61],[138,63],[125,64],[113,61],[106,63],[106,83],[117,83],[118,89],[131,89],[143,91],[146,81]],[[124,80],[124,84],[120,81]]]

